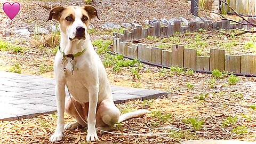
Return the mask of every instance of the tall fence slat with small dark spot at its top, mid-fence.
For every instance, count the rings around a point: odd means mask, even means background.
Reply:
[[[184,46],[172,45],[172,66],[184,66]]]

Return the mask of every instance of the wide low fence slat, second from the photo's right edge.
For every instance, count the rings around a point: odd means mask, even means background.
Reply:
[[[226,55],[225,71],[241,73],[241,55]]]

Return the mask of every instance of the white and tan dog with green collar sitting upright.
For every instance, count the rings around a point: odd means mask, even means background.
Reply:
[[[149,112],[141,109],[120,116],[105,67],[94,51],[87,31],[90,20],[95,17],[99,19],[98,11],[91,5],[57,6],[50,11],[47,21],[59,21],[61,36],[53,68],[58,119],[51,142],[60,141],[65,129],[74,130],[86,125],[86,141],[97,141],[96,127],[98,130],[111,130],[118,122]],[[66,102],[65,85],[72,95]],[[64,125],[64,111],[76,122]]]

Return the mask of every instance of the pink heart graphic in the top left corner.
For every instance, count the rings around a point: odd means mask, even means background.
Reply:
[[[3,9],[5,14],[12,20],[20,11],[20,4],[15,2],[13,4],[10,4],[9,2],[6,2],[3,4]]]

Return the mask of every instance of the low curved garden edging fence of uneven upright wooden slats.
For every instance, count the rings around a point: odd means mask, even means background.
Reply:
[[[251,28],[230,23],[228,20],[211,23],[211,20],[206,20],[201,23],[189,22],[188,26],[181,26],[181,21],[174,21],[174,25],[165,27],[161,27],[159,22],[155,22],[153,26],[145,29],[142,26],[137,26],[131,31],[124,30],[123,34],[114,33],[113,51],[127,57],[163,66],[179,66],[203,71],[219,69],[237,74],[255,75],[256,55],[227,55],[226,50],[211,49],[210,57],[202,57],[197,56],[197,50],[185,49],[183,45],[172,45],[172,51],[168,51],[159,47],[149,47],[143,43],[132,44],[131,46],[128,43],[130,41],[139,41],[148,36],[167,37],[174,35],[175,32],[186,33],[187,31],[196,31],[199,28]]]

